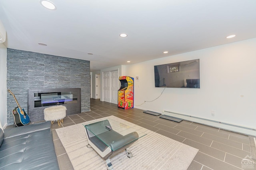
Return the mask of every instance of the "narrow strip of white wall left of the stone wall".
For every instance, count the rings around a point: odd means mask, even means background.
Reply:
[[[3,127],[7,125],[7,67],[6,67],[6,47],[0,43],[0,122]]]

